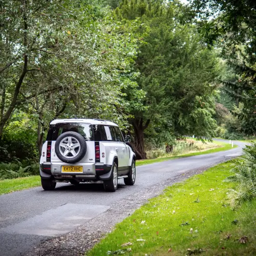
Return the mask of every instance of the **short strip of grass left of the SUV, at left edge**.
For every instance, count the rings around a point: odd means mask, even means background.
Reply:
[[[40,176],[0,180],[0,195],[41,185]]]

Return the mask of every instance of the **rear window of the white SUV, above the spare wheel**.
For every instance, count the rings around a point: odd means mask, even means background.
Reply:
[[[59,135],[66,132],[76,132],[85,140],[94,140],[92,125],[89,123],[58,123],[50,125],[47,140],[56,140]]]

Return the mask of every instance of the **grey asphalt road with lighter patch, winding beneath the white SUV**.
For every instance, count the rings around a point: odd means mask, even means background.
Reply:
[[[65,234],[98,216],[118,200],[143,188],[197,168],[241,155],[243,142],[229,151],[205,154],[138,166],[136,183],[125,186],[119,180],[115,193],[106,193],[101,184],[79,187],[57,183],[54,191],[41,187],[0,196],[0,255],[25,255],[49,237]]]

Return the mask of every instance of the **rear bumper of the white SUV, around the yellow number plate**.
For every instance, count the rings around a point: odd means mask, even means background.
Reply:
[[[82,173],[62,173],[61,166],[82,166]],[[101,180],[100,176],[108,174],[111,171],[112,165],[108,164],[95,164],[95,163],[80,163],[80,164],[68,164],[63,162],[56,163],[42,163],[40,164],[40,176],[43,179],[49,179],[51,177],[58,177],[59,179],[70,179],[72,177],[82,179],[83,177],[88,180]],[[63,177],[62,177],[63,176]],[[105,179],[105,178],[103,178]],[[102,179],[102,180],[103,180]]]

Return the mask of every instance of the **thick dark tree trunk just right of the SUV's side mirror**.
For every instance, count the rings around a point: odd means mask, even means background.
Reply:
[[[150,124],[150,119],[146,120],[146,123],[143,125],[142,118],[136,118],[131,120],[131,124],[134,129],[134,143],[132,143],[132,147],[134,153],[136,154],[136,159],[146,159],[146,152],[144,148],[144,130],[147,128],[148,124]]]

